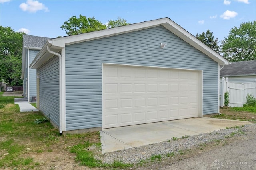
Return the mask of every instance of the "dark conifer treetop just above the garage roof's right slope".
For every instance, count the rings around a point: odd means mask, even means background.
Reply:
[[[214,35],[209,29],[206,31],[206,33],[202,32],[199,35],[196,34],[196,38],[217,53],[220,52],[220,47],[218,46],[218,38],[214,39]]]

